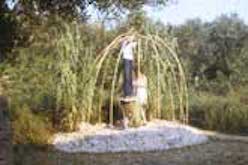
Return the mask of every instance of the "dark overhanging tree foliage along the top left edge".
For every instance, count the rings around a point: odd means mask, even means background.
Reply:
[[[0,56],[4,60],[14,47],[32,42],[33,31],[44,21],[54,17],[85,22],[91,14],[89,6],[102,14],[118,17],[120,13],[134,11],[143,5],[164,5],[167,0],[19,0],[14,9],[8,9],[6,0],[0,0]],[[11,55],[13,57],[13,55]]]

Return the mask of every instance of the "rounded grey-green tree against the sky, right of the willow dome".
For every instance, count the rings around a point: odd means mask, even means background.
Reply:
[[[181,57],[188,61],[192,76],[215,79],[218,72],[231,78],[235,63],[246,47],[248,27],[237,15],[221,16],[211,23],[188,21],[176,27]]]

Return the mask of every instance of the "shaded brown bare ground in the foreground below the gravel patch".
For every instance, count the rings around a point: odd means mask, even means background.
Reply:
[[[163,152],[65,154],[48,148],[15,147],[16,165],[247,165],[248,143],[210,140]]]

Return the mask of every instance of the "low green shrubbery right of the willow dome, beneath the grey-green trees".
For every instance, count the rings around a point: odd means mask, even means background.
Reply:
[[[200,92],[190,101],[191,124],[228,133],[248,133],[248,102],[245,87],[226,96]]]

